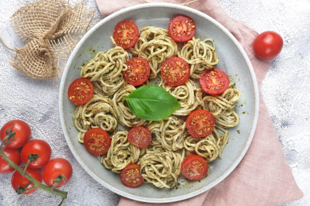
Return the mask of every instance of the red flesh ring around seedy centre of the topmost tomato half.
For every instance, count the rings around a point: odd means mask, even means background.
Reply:
[[[174,29],[173,24],[179,20],[181,20],[182,22],[185,22],[185,21],[190,22],[190,25],[189,25],[190,31],[189,31],[189,34],[187,36],[178,37],[178,36],[173,35],[173,29]],[[176,16],[173,19],[171,19],[169,24],[168,24],[169,36],[177,42],[186,42],[186,41],[191,40],[193,38],[193,36],[195,36],[195,32],[196,32],[196,25],[195,25],[193,19],[190,18],[189,16],[186,16],[186,15]],[[183,33],[185,33],[185,32],[183,32]]]

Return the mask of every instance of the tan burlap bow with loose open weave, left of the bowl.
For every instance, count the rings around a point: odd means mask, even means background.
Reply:
[[[24,48],[15,48],[11,65],[21,73],[38,79],[60,75],[61,65],[86,32],[95,11],[62,0],[29,3],[11,17],[12,27]]]

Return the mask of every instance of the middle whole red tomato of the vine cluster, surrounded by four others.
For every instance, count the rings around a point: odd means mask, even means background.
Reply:
[[[31,140],[25,144],[20,153],[21,161],[25,164],[28,161],[29,154],[38,154],[36,161],[31,161],[29,168],[38,169],[44,166],[51,158],[51,147],[43,140]]]

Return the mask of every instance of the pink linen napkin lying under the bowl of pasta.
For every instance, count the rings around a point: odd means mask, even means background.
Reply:
[[[186,3],[190,0],[149,0],[150,2]],[[96,0],[101,14],[106,17],[120,9],[144,3],[143,0]],[[271,61],[255,57],[252,42],[256,31],[232,19],[218,0],[198,0],[188,5],[224,25],[239,41],[253,65],[260,88]],[[250,148],[239,165],[222,182],[210,190],[174,203],[160,205],[276,205],[303,197],[290,167],[286,163],[267,107],[259,91],[259,119]],[[122,197],[119,206],[156,205]],[[159,205],[159,204],[158,204]]]

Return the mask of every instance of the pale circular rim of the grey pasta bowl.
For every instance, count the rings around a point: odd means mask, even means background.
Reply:
[[[179,10],[183,10],[183,11],[188,11],[191,13],[195,13],[196,15],[200,16],[201,18],[204,18],[208,21],[210,21],[211,23],[213,23],[216,27],[218,27],[220,30],[222,30],[224,32],[224,34],[226,34],[228,36],[228,38],[230,40],[232,40],[232,42],[235,44],[235,46],[237,47],[237,49],[240,51],[241,55],[243,56],[246,65],[249,69],[250,72],[250,76],[253,82],[253,89],[254,89],[254,115],[253,115],[253,124],[248,136],[248,139],[246,141],[246,144],[244,145],[244,147],[242,148],[241,152],[239,153],[238,157],[236,158],[236,160],[232,163],[232,165],[221,175],[219,176],[217,179],[215,179],[215,181],[209,185],[206,185],[205,187],[202,187],[199,190],[193,191],[191,193],[185,194],[185,195],[179,195],[179,196],[175,196],[175,197],[164,197],[164,198],[146,198],[146,197],[141,197],[138,195],[132,195],[127,193],[126,191],[122,191],[118,188],[116,188],[113,185],[110,185],[106,182],[104,182],[102,179],[100,179],[97,175],[95,175],[93,173],[93,171],[91,170],[91,168],[89,168],[85,162],[81,159],[81,157],[79,156],[79,154],[77,153],[77,150],[74,148],[73,143],[71,142],[71,139],[69,138],[69,134],[68,131],[66,130],[65,127],[65,121],[64,121],[64,112],[63,112],[63,93],[64,93],[64,84],[65,84],[65,80],[69,71],[69,65],[71,65],[74,57],[77,55],[79,49],[81,48],[81,46],[84,44],[84,42],[88,39],[89,36],[91,36],[91,34],[93,32],[95,32],[99,27],[101,27],[104,23],[108,22],[110,19],[121,15],[123,13],[126,12],[130,12],[133,10],[138,10],[141,8],[149,8],[149,7],[170,7],[173,9],[179,9]],[[70,57],[65,65],[63,74],[62,74],[62,78],[60,81],[60,87],[59,87],[59,99],[58,99],[58,106],[59,106],[59,116],[60,116],[60,124],[61,124],[61,128],[65,137],[65,140],[71,150],[71,153],[73,154],[73,156],[76,158],[76,160],[78,161],[78,163],[82,166],[82,168],[93,178],[95,179],[98,183],[100,183],[101,185],[103,185],[104,187],[108,188],[109,190],[117,193],[118,195],[122,195],[124,197],[127,197],[129,199],[132,200],[138,200],[138,201],[142,201],[142,202],[151,202],[151,203],[166,203],[166,202],[174,202],[174,201],[179,201],[179,200],[184,200],[184,199],[188,199],[190,197],[196,196],[201,194],[202,192],[214,187],[216,184],[218,184],[219,182],[221,182],[223,179],[225,179],[231,172],[232,170],[234,170],[236,168],[236,166],[239,164],[239,162],[241,161],[241,159],[244,157],[247,149],[250,146],[250,143],[253,139],[254,133],[255,133],[255,129],[256,129],[256,125],[257,125],[257,121],[258,121],[258,114],[259,114],[259,90],[258,90],[258,84],[257,84],[257,80],[256,80],[256,76],[255,76],[255,72],[254,69],[251,65],[251,62],[248,58],[248,56],[246,55],[244,49],[242,48],[241,44],[237,41],[237,39],[219,22],[217,22],[215,19],[211,18],[210,16],[197,11],[196,9],[187,7],[187,6],[182,6],[182,5],[178,5],[178,4],[171,4],[171,3],[146,3],[146,4],[138,4],[135,6],[130,6],[127,8],[124,8],[122,10],[119,10],[107,17],[105,17],[104,19],[102,19],[100,22],[98,22],[94,27],[92,27],[83,37],[82,39],[78,42],[78,44],[75,46],[75,48],[73,49],[72,53],[70,54]]]

